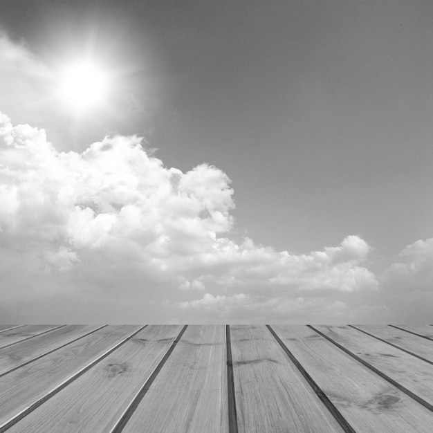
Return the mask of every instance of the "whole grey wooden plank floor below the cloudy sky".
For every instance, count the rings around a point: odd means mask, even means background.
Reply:
[[[433,432],[433,326],[0,325],[0,432]]]

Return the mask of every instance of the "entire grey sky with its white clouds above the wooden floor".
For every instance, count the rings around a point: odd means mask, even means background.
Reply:
[[[2,0],[0,322],[431,323],[432,21]]]

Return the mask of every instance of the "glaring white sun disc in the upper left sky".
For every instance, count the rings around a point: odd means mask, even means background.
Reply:
[[[63,68],[60,94],[77,112],[100,107],[109,93],[109,75],[98,64],[81,60]]]

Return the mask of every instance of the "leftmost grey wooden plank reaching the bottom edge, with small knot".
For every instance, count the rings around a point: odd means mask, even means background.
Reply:
[[[143,329],[8,433],[109,432],[182,327],[154,325]]]

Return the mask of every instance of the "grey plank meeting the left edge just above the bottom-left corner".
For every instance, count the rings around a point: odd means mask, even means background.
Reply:
[[[106,326],[0,378],[0,432],[142,326]]]

